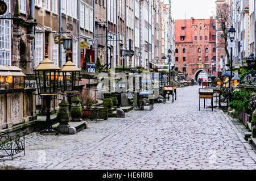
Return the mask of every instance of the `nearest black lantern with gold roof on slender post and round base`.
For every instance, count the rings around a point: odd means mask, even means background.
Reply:
[[[49,60],[47,54],[45,59],[40,62],[40,64],[34,70],[38,94],[46,103],[46,129],[40,133],[57,133],[52,129],[50,106],[52,95],[58,94],[60,76],[59,70],[59,66],[55,65],[51,60]]]

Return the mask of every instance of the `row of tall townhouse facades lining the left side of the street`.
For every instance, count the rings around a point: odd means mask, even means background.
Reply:
[[[121,66],[123,59],[126,66],[154,68],[167,64],[168,49],[174,49],[171,1],[4,1],[8,17],[0,19],[0,64],[20,66],[28,74],[45,54],[60,67],[71,57],[81,68],[87,54],[90,62],[98,57],[105,69]],[[68,52],[64,38],[72,39]],[[122,57],[122,49],[134,56]]]

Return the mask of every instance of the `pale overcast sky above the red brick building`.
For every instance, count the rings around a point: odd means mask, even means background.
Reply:
[[[216,0],[171,0],[172,18],[174,19],[208,19],[216,13]],[[166,3],[169,1],[166,0]]]

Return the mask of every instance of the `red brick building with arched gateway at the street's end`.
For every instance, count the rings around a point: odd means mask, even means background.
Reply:
[[[188,79],[195,79],[201,71],[208,76],[216,74],[216,20],[175,20],[175,66],[187,73]],[[185,68],[185,64],[187,68]],[[210,68],[210,69],[209,69]]]

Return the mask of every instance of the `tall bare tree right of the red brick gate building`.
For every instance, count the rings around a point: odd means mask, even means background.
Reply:
[[[223,37],[223,40],[218,37],[218,45],[225,48],[226,57],[228,58],[228,64],[230,68],[230,60],[229,60],[229,50],[228,50],[228,34],[229,34],[229,5],[224,3],[217,7],[216,11],[216,21],[218,23],[218,30],[222,33],[220,36]]]

